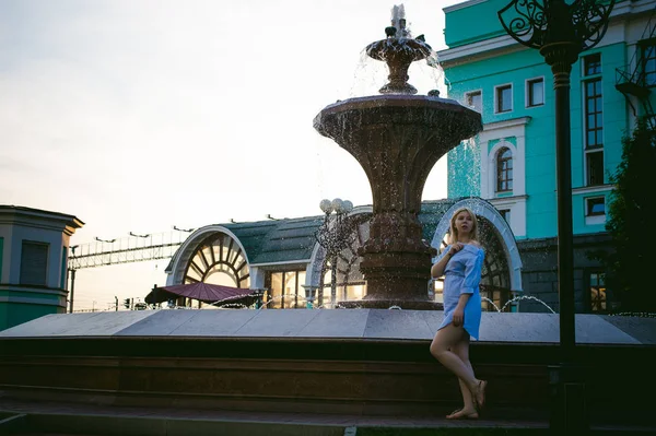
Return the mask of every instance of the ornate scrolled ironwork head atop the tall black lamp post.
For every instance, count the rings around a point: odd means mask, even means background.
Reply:
[[[596,46],[606,34],[614,1],[577,0],[567,4],[564,0],[513,0],[499,11],[499,20],[524,46],[572,43],[583,51]]]

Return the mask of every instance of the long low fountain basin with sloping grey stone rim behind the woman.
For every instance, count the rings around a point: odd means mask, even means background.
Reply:
[[[0,332],[0,394],[110,405],[445,414],[456,378],[429,353],[433,310],[148,310],[49,315]],[[656,319],[576,316],[576,360],[599,417],[651,417]],[[471,346],[502,416],[547,416],[551,314],[484,313]],[[504,412],[501,412],[505,410]],[[490,412],[492,413],[492,412]]]

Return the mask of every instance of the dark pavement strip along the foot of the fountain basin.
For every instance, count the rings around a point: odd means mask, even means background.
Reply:
[[[3,424],[4,423],[4,424]],[[595,435],[655,434],[656,426],[594,425]],[[496,414],[469,421],[443,416],[363,416],[201,409],[116,406],[0,397],[0,435],[177,436],[177,435],[547,435],[543,419]]]

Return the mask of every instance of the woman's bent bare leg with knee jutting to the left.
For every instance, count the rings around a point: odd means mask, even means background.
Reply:
[[[450,351],[466,334],[465,329],[454,327],[453,323],[437,330],[431,343],[431,354],[448,370],[455,374],[471,392],[477,392],[479,381],[481,380],[477,379],[473,375],[471,365],[468,366],[465,364],[456,353]]]

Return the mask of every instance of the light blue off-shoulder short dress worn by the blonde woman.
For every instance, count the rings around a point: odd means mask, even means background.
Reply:
[[[437,257],[437,261],[448,252],[447,246]],[[454,310],[458,305],[460,294],[471,294],[465,306],[465,330],[476,340],[479,337],[481,325],[481,294],[479,284],[481,282],[481,269],[485,254],[482,248],[471,244],[465,244],[462,249],[456,252],[444,269],[444,320],[440,329],[453,322]],[[438,330],[440,330],[438,329]]]

